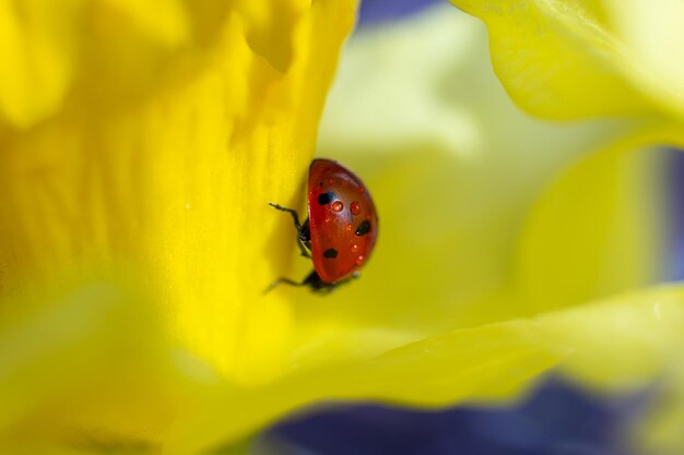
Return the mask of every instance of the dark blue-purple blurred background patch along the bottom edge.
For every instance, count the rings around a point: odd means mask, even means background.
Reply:
[[[511,407],[323,408],[266,438],[290,455],[629,455],[625,435],[646,402],[645,394],[609,399],[552,380]]]

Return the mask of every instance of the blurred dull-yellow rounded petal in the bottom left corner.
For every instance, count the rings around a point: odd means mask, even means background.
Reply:
[[[20,308],[0,323],[0,451],[153,444],[168,431],[181,374],[138,289],[93,276],[7,306]]]

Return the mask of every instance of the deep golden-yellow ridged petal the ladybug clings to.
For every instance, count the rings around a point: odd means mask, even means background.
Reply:
[[[354,14],[352,1],[249,4],[283,12],[279,27],[243,5],[93,7],[71,95],[3,137],[0,169],[3,290],[123,268],[158,296],[176,343],[245,383],[286,369],[292,310],[260,297],[293,230],[268,202],[302,202]],[[283,43],[287,64],[263,50]]]

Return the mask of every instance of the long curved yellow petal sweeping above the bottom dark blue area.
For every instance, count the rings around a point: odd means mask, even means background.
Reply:
[[[214,397],[174,453],[231,440],[320,399],[382,399],[420,406],[511,398],[558,368],[614,391],[645,385],[681,362],[684,288],[656,288],[570,310],[461,330],[366,361],[294,374]],[[233,409],[239,420],[226,426]],[[189,444],[189,445],[186,445]]]

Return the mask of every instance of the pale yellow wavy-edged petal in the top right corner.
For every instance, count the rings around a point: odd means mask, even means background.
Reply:
[[[653,64],[651,57],[677,61],[658,40],[670,33],[663,39],[670,48],[676,43],[672,39],[679,29],[674,24],[682,20],[676,2],[452,2],[485,22],[496,73],[511,98],[530,113],[577,119],[649,116],[662,110],[681,116],[683,111],[680,95],[663,96],[675,94],[675,86],[668,84],[675,72],[662,72],[663,67]],[[649,13],[642,14],[646,11]],[[671,13],[680,15],[669,16]],[[623,26],[621,20],[626,16],[629,25]],[[667,64],[674,70],[672,63]],[[681,80],[681,72],[676,74]]]

